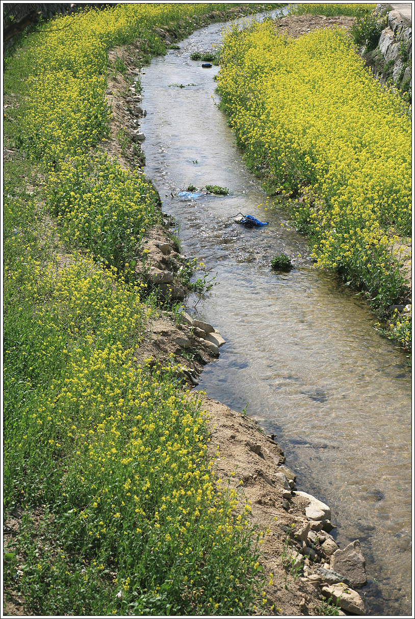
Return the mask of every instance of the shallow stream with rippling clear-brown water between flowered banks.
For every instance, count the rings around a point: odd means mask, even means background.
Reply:
[[[200,387],[235,410],[249,403],[247,413],[285,449],[298,487],[331,506],[341,547],[361,540],[370,614],[410,615],[411,373],[404,353],[372,328],[367,305],[312,268],[286,213],[265,210],[215,106],[217,67],[189,59],[220,32],[198,30],[142,76],[146,173],[179,224],[184,253],[220,282],[196,310],[227,342]],[[179,198],[189,184],[230,194]],[[233,222],[240,211],[270,223],[247,230]],[[270,270],[280,251],[293,258],[286,274]]]

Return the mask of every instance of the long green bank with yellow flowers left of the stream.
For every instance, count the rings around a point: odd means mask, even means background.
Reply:
[[[108,49],[164,53],[156,27],[184,33],[228,8],[62,17],[6,61],[4,515],[20,528],[5,586],[31,612],[242,615],[266,602],[260,535],[213,473],[200,402],[174,366],[135,360],[159,310],[132,263],[160,199],[99,150]]]

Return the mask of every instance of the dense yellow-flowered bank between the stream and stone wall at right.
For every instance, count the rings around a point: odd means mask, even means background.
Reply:
[[[375,308],[403,298],[408,108],[367,72],[346,33],[294,40],[270,22],[234,28],[221,52],[218,90],[246,162],[310,236],[316,266],[335,269]]]

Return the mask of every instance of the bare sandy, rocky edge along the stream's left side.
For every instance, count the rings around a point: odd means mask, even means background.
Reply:
[[[314,16],[315,17],[315,16]],[[291,18],[288,18],[291,19]],[[301,18],[299,21],[301,21]],[[340,18],[341,21],[349,18]],[[328,18],[330,25],[338,20]],[[333,22],[333,23],[332,23]],[[301,24],[297,24],[301,28]],[[318,24],[321,24],[319,18]],[[316,24],[317,26],[317,24]],[[132,55],[133,54],[133,55]],[[113,110],[111,137],[103,143],[109,154],[118,156],[124,167],[143,167],[144,158],[134,139],[140,134],[139,119],[145,114],[141,95],[134,94],[130,79],[137,79],[134,51],[118,48],[113,58],[121,58],[127,74],[109,83],[107,97]],[[144,70],[141,71],[143,73]],[[129,132],[129,144],[122,148],[119,128]],[[161,294],[184,297],[180,271],[187,258],[174,249],[169,222],[152,230],[143,245],[148,265],[147,282],[158,285]],[[142,269],[139,265],[137,269]],[[226,334],[223,334],[226,337]],[[189,314],[160,314],[148,324],[145,340],[135,353],[137,362],[150,365],[169,363],[189,389],[197,384],[203,366],[220,355],[225,343],[213,325]],[[327,599],[338,599],[340,614],[364,615],[364,596],[356,589],[366,584],[366,564],[359,540],[340,549],[330,534],[330,507],[296,488],[296,474],[285,465],[285,455],[273,436],[265,436],[254,418],[229,409],[205,394],[205,414],[209,417],[210,454],[224,483],[239,487],[250,501],[252,524],[267,530],[262,543],[262,566],[267,574],[266,613],[275,615],[319,615],[327,613]],[[264,609],[258,609],[263,614]]]

